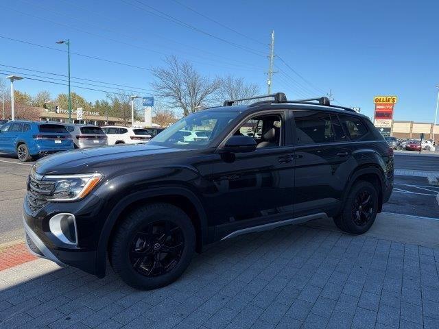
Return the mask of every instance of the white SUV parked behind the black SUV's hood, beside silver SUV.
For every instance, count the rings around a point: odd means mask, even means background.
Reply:
[[[108,145],[144,144],[151,139],[151,135],[143,128],[107,125],[102,130],[107,135]]]

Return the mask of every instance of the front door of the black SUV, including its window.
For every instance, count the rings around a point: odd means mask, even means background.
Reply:
[[[287,112],[253,114],[233,134],[257,142],[248,153],[214,154],[215,236],[293,217],[294,149]],[[291,131],[291,130],[290,130]],[[221,147],[221,145],[219,146]]]

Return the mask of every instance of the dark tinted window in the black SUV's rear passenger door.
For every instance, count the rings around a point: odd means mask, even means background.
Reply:
[[[294,121],[299,145],[346,141],[342,125],[334,114],[296,110]]]

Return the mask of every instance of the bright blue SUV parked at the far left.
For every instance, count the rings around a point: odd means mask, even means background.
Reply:
[[[73,141],[64,125],[10,121],[0,127],[0,152],[16,154],[20,161],[67,149],[73,149]]]

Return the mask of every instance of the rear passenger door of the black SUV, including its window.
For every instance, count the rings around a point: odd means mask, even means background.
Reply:
[[[350,173],[351,149],[336,114],[292,110],[294,116],[294,215],[332,216]]]

